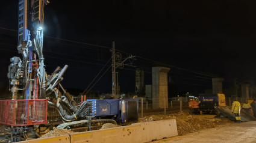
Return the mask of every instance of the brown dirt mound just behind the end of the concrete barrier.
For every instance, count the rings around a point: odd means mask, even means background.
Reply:
[[[200,129],[218,127],[220,124],[233,123],[227,118],[214,118],[215,115],[189,115],[186,112],[169,115],[152,115],[140,118],[139,122],[176,119],[178,135],[196,132]]]

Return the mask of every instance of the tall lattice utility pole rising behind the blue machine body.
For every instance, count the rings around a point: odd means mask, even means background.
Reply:
[[[112,42],[112,95],[116,96],[116,51]]]

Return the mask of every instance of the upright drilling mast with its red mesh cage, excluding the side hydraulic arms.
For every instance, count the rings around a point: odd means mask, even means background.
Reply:
[[[28,130],[47,123],[46,72],[43,58],[43,7],[46,0],[19,0],[17,50],[10,59],[12,100],[0,101],[0,123],[7,125],[11,142],[27,139]]]

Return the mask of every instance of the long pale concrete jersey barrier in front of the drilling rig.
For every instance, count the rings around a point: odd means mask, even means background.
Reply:
[[[80,142],[150,142],[156,139],[170,138],[177,136],[176,120],[149,121],[145,123],[135,123],[131,126],[115,127],[111,129],[93,130],[89,132],[72,133],[67,136],[57,136],[51,138],[33,139],[30,143],[36,142],[58,142],[70,143]]]

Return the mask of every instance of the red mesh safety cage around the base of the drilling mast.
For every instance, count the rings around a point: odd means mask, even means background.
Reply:
[[[47,124],[47,102],[48,99],[0,100],[0,124]]]

